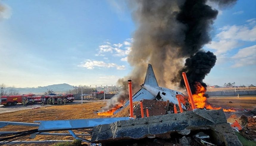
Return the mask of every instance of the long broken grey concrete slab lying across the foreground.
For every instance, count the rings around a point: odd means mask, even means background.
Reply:
[[[168,139],[177,133],[186,135],[204,131],[215,138],[216,145],[241,145],[230,124],[227,123],[222,109],[198,110],[201,109],[98,125],[93,127],[91,142],[113,144],[150,137]],[[168,134],[170,136],[166,136]]]

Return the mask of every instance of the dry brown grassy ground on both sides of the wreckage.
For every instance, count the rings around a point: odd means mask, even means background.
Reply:
[[[208,101],[213,106],[234,107],[238,109],[254,109],[256,108],[255,97],[211,97]],[[231,101],[232,103],[229,103]],[[105,102],[106,104],[107,102]],[[103,101],[92,103],[49,106],[39,109],[26,109],[14,112],[6,112],[0,114],[1,121],[14,121],[14,122],[29,122],[33,123],[35,120],[69,120],[69,119],[88,119],[88,118],[103,118],[110,116],[99,116],[96,111],[101,109],[105,104]],[[128,110],[129,112],[129,110]],[[121,115],[114,115],[118,117]],[[26,126],[6,126],[0,128],[0,131],[25,131],[36,129],[37,127]],[[77,132],[77,131],[74,131]],[[68,133],[62,131],[61,133]],[[79,132],[77,132],[79,133]],[[38,135],[35,139],[26,140],[74,140],[72,136],[44,136]]]

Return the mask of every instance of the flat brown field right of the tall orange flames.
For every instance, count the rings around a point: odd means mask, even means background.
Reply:
[[[235,109],[255,109],[256,96],[240,96],[237,97],[210,97],[207,101],[216,107],[232,107]],[[230,103],[232,102],[232,103]]]

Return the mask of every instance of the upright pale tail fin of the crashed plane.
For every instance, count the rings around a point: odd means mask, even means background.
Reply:
[[[157,79],[155,77],[154,70],[153,70],[151,64],[148,65],[148,69],[147,69],[144,84],[150,85],[152,87],[158,87]]]

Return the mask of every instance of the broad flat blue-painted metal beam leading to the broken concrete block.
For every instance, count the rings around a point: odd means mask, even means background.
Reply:
[[[35,121],[40,122],[38,131],[61,131],[93,128],[97,125],[110,124],[120,120],[129,120],[129,117],[98,118],[98,119],[77,119],[77,120],[54,120],[54,121]]]

